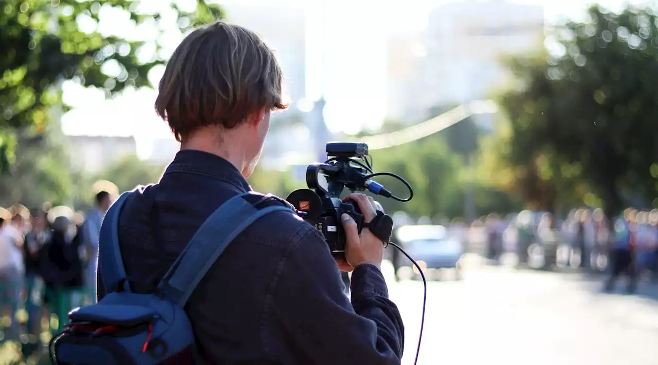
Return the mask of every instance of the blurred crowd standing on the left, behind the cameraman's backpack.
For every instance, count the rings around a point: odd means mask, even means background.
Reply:
[[[63,329],[55,318],[95,300],[100,227],[113,197],[101,191],[95,198],[88,212],[48,203],[0,208],[0,340],[36,342]]]

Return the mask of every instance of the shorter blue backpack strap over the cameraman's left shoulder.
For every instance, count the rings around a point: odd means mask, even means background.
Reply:
[[[105,293],[124,289],[130,291],[130,285],[126,279],[126,268],[124,267],[121,250],[119,249],[119,213],[130,191],[121,194],[112,207],[107,210],[103,224],[101,224],[101,235],[98,243],[98,270],[101,272]],[[122,288],[119,288],[123,281]]]

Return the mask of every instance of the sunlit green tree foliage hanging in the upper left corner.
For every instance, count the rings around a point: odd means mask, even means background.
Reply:
[[[172,7],[182,29],[222,17],[217,5],[203,0],[194,12]],[[149,70],[164,62],[152,40],[101,35],[100,14],[109,9],[126,11],[136,26],[167,25],[161,14],[141,12],[139,1],[0,0],[0,168],[6,171],[15,161],[19,135],[45,130],[63,80],[99,87],[109,97],[148,85]],[[140,62],[138,55],[149,49],[153,57]]]

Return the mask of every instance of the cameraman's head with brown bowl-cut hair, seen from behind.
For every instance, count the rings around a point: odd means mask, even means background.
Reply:
[[[155,101],[182,149],[220,155],[247,178],[270,112],[286,109],[283,74],[260,36],[215,22],[191,32],[169,60]]]

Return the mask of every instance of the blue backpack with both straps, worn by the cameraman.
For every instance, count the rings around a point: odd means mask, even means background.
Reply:
[[[157,293],[130,291],[118,245],[118,215],[130,192],[122,194],[105,216],[99,243],[99,268],[107,295],[97,304],[76,308],[70,322],[49,344],[55,365],[193,364],[194,333],[184,306],[213,262],[245,228],[279,210],[277,203],[258,208],[272,195],[242,193],[219,207],[196,231],[176,258]]]

